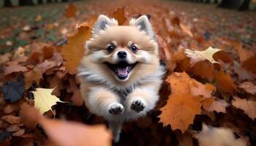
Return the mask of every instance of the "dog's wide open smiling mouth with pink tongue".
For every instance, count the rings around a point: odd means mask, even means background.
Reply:
[[[121,61],[118,64],[110,64],[108,62],[105,64],[116,74],[119,80],[125,80],[137,63],[128,64],[126,61]]]

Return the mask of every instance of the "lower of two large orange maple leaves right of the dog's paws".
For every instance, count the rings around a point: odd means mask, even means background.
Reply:
[[[165,107],[160,110],[162,114],[159,115],[159,122],[164,126],[170,124],[173,130],[180,129],[184,133],[189,124],[193,123],[195,115],[201,112],[201,98],[192,97],[189,94],[171,94]]]

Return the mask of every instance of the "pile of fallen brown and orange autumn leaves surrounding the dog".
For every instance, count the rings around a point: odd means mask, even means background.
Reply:
[[[147,14],[167,68],[157,107],[145,118],[125,123],[116,145],[255,144],[255,44],[245,49],[241,41],[211,38],[210,32],[184,23],[168,4],[90,2],[83,6],[87,15],[69,4],[62,18],[69,23],[43,25],[59,28],[56,35],[64,39],[33,39],[1,55],[1,144],[111,145],[104,125],[89,126],[106,121],[86,109],[75,76],[99,14],[116,18],[120,25]],[[24,26],[23,36],[33,33]]]

